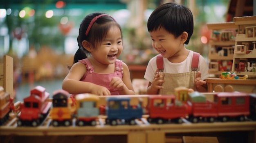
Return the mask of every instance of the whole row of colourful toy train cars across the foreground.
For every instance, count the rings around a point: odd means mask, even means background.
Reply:
[[[7,93],[1,94],[1,111],[6,121],[12,102]],[[64,90],[56,90],[52,95],[42,86],[36,86],[30,91],[30,96],[24,98],[18,114],[18,126],[38,126],[47,117],[52,119],[53,126],[84,126],[97,125],[101,114],[106,116],[106,124],[118,125],[124,121],[130,125],[136,124],[136,119],[148,114],[149,123],[183,123],[184,119],[197,123],[199,121],[228,121],[237,119],[245,121],[248,118],[256,120],[256,95],[244,92],[219,92],[214,94],[213,101],[208,101],[200,92],[189,92],[187,88],[176,88],[174,95],[149,95],[147,106],[131,105],[130,97],[107,97],[106,106],[100,105],[99,96],[79,94],[74,98]],[[7,106],[7,107],[6,107]],[[6,108],[3,108],[6,107]]]

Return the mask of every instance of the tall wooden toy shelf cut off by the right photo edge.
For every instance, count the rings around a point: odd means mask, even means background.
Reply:
[[[232,71],[236,75],[256,77],[256,16],[233,18],[238,26]]]

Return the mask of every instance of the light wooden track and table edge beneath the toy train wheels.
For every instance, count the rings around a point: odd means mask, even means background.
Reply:
[[[4,125],[0,126],[0,135],[33,135],[33,136],[45,136],[45,135],[95,135],[95,134],[127,134],[128,132],[152,132],[163,131],[166,133],[175,132],[191,132],[198,130],[198,132],[205,132],[211,130],[212,132],[223,131],[243,131],[243,130],[255,130],[256,121],[250,119],[245,122],[230,121],[230,122],[215,122],[215,123],[191,123],[184,119],[183,123],[166,123],[155,124],[148,123],[146,118],[148,115],[143,115],[141,119],[136,119],[136,125],[126,125],[124,121],[119,121],[118,126],[112,126],[106,124],[106,116],[101,116],[97,120],[96,126],[77,126],[75,119],[72,121],[72,125],[68,127],[54,127],[52,126],[52,119],[47,118],[37,127],[18,127],[17,117],[10,118]]]

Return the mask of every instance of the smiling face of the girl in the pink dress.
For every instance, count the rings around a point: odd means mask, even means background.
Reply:
[[[112,26],[106,39],[101,41],[101,45],[91,51],[92,57],[101,64],[113,64],[122,53],[123,44],[121,39],[121,31],[118,26]]]

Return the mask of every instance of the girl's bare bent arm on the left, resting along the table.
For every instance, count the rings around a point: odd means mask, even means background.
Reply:
[[[62,82],[62,89],[70,94],[92,93],[95,95],[110,95],[110,91],[90,82],[80,81],[87,69],[82,63],[75,63]]]

